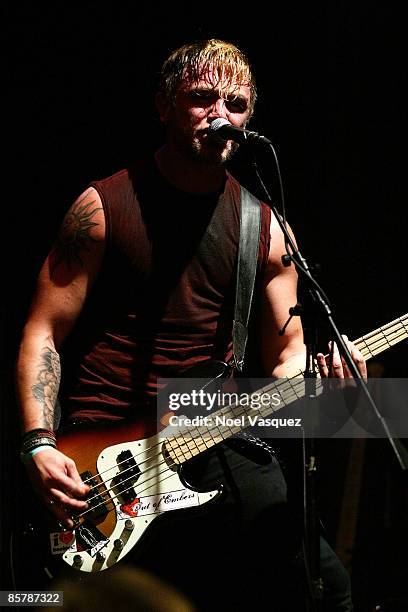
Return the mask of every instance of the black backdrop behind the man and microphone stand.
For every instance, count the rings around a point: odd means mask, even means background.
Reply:
[[[302,254],[320,264],[340,330],[355,338],[406,311],[402,9],[351,1],[72,4],[1,9],[6,490],[14,486],[17,446],[12,367],[38,268],[88,182],[160,145],[157,73],[168,52],[187,41],[224,38],[250,57],[259,89],[250,127],[275,144],[288,220]],[[245,176],[242,160],[237,171]],[[271,165],[271,180],[273,173]],[[326,334],[322,328],[322,343]],[[407,343],[381,356],[384,375],[406,376],[407,357]],[[347,460],[346,444],[322,446],[322,515],[333,541]],[[391,452],[377,442],[366,453],[359,498],[353,574],[361,610],[376,597],[396,596],[394,579],[406,573],[406,495]],[[7,499],[4,546],[13,523],[13,496]],[[7,568],[4,575],[7,582]]]

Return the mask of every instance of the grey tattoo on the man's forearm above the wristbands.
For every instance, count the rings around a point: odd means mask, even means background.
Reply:
[[[46,346],[41,351],[41,364],[37,376],[37,383],[31,390],[35,399],[41,404],[43,410],[44,427],[53,429],[54,408],[57,401],[58,389],[61,380],[60,359],[57,351]]]

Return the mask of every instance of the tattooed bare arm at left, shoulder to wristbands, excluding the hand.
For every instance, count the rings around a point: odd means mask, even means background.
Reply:
[[[60,383],[58,350],[97,275],[105,223],[99,195],[88,189],[72,205],[39,274],[17,361],[24,431],[53,428]]]

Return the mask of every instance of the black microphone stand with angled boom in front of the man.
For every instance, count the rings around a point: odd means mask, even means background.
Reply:
[[[249,141],[248,141],[249,142]],[[280,331],[280,334],[283,334],[286,326],[288,325],[290,319],[293,316],[300,314],[299,310],[302,313],[302,324],[304,326],[304,341],[306,345],[306,367],[304,372],[305,378],[305,396],[306,396],[306,409],[312,412],[311,422],[313,424],[316,423],[316,418],[318,415],[318,408],[316,402],[318,402],[317,397],[317,371],[315,367],[316,363],[316,347],[317,347],[317,332],[318,325],[317,321],[319,316],[323,316],[329,328],[332,331],[332,339],[337,343],[340,355],[343,357],[346,362],[350,373],[356,381],[357,386],[363,393],[363,397],[365,397],[367,404],[371,407],[374,415],[377,417],[384,433],[385,437],[388,438],[389,443],[393,449],[393,452],[397,458],[397,461],[400,467],[403,470],[408,470],[408,465],[404,462],[403,455],[404,449],[402,448],[401,442],[398,439],[394,439],[389,431],[388,425],[381,416],[378,411],[378,408],[368,390],[366,382],[360,374],[356,364],[354,363],[350,351],[338,330],[338,327],[333,319],[332,311],[329,305],[329,300],[319,284],[313,278],[307,261],[301,255],[297,246],[295,245],[292,237],[290,236],[287,227],[286,227],[286,218],[285,218],[285,208],[284,208],[284,198],[283,198],[283,188],[282,188],[282,179],[279,170],[278,159],[276,156],[275,149],[270,141],[259,142],[252,141],[250,142],[252,145],[252,153],[254,153],[257,145],[261,144],[263,148],[265,148],[265,144],[267,144],[268,148],[272,151],[277,172],[280,183],[280,192],[282,199],[282,209],[283,209],[283,217],[279,214],[275,205],[273,204],[272,197],[270,196],[262,178],[259,174],[256,157],[252,155],[252,166],[255,170],[255,174],[259,180],[261,188],[266,195],[266,201],[271,208],[279,226],[282,230],[282,233],[285,237],[285,245],[287,254],[282,256],[282,262],[285,266],[290,266],[293,262],[296,266],[296,269],[302,274],[302,279],[305,281],[305,295],[307,296],[306,307],[296,305],[289,310],[289,319],[285,323],[283,329]],[[313,612],[318,612],[321,608],[321,599],[323,596],[323,581],[320,575],[320,534],[319,534],[319,518],[317,512],[317,497],[316,497],[316,455],[315,455],[315,442],[314,442],[313,431],[312,435],[307,439],[305,436],[303,438],[303,511],[304,511],[304,533],[305,533],[305,563],[306,563],[306,573],[307,573],[307,582],[309,586],[309,595],[310,595],[310,610]],[[399,447],[399,448],[398,448]]]

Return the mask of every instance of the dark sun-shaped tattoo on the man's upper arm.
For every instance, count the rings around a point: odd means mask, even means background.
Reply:
[[[90,244],[96,242],[90,235],[90,231],[98,223],[92,221],[92,217],[102,209],[101,207],[92,208],[95,200],[89,201],[87,197],[84,196],[82,200],[74,204],[65,215],[50,257],[51,274],[54,274],[62,263],[69,268],[73,263],[83,267],[82,253],[89,251]]]

